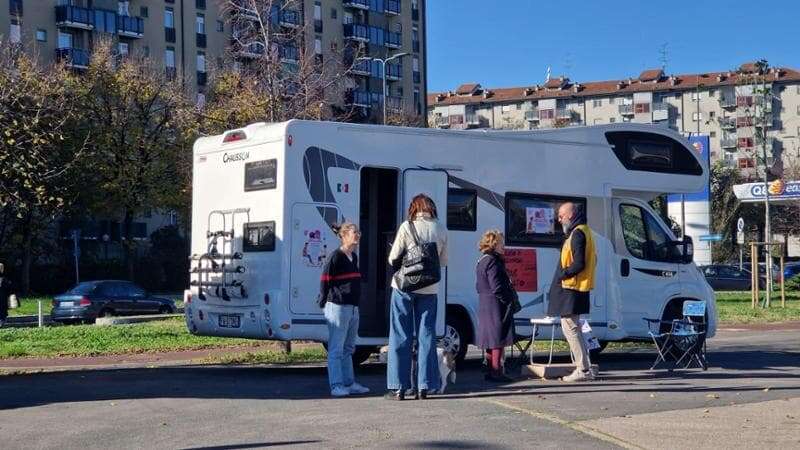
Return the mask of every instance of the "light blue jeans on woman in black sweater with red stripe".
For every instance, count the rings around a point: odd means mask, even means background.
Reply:
[[[358,307],[325,304],[328,321],[328,383],[335,386],[353,384],[353,352],[358,336]]]

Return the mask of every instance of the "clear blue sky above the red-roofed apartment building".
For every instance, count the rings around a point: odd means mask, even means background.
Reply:
[[[728,70],[800,69],[800,0],[428,0],[428,90]]]

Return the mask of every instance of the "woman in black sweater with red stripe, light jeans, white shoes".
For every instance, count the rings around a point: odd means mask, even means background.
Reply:
[[[355,381],[353,352],[358,336],[361,272],[356,247],[361,238],[350,222],[334,226],[342,245],[325,261],[320,277],[319,305],[328,322],[328,382],[331,395],[366,394],[369,388]]]

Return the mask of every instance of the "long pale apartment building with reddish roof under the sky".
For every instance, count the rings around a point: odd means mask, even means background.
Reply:
[[[753,84],[757,81],[756,84]],[[759,97],[760,83],[772,92]],[[800,71],[772,68],[759,75],[745,63],[736,71],[667,75],[645,70],[636,78],[579,83],[567,77],[543,84],[488,89],[477,83],[428,96],[432,127],[534,129],[614,122],[652,123],[684,135],[710,137],[712,162],[755,177],[756,128],[764,127],[768,163],[800,164]]]

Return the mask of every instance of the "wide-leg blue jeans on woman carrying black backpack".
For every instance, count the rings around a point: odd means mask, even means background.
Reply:
[[[436,359],[436,294],[392,290],[389,328],[388,389],[411,388],[411,350],[417,333],[417,388],[436,390],[441,385]]]

